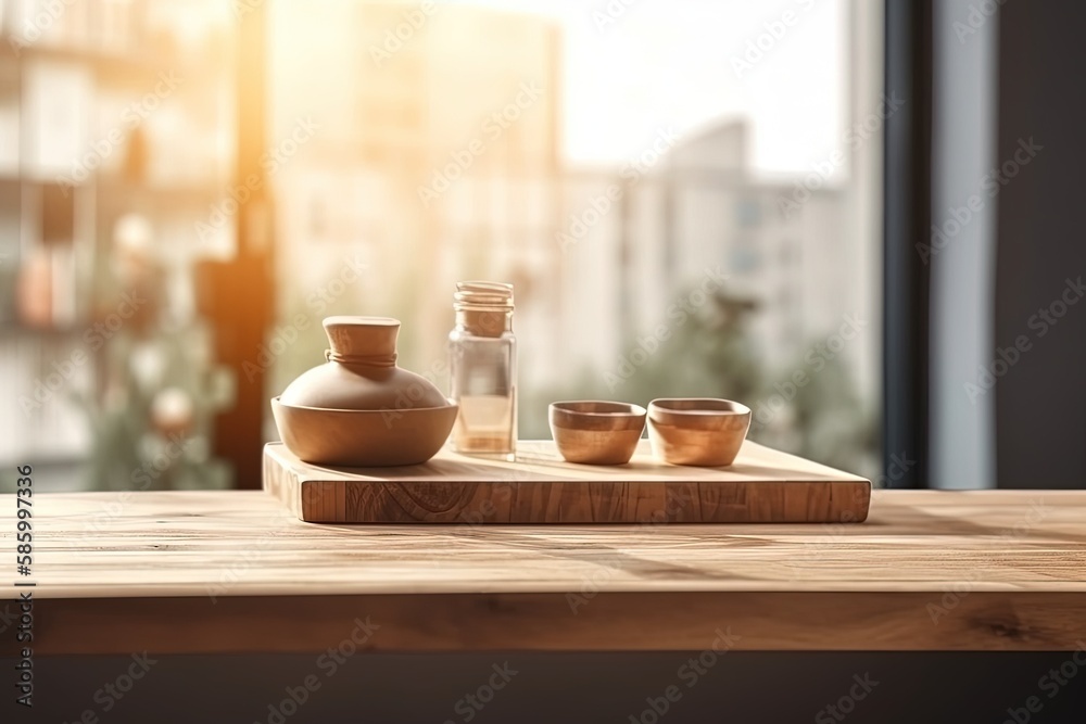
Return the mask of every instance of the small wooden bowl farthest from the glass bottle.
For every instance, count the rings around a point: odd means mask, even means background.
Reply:
[[[685,397],[648,403],[653,453],[671,465],[729,466],[750,428],[750,408],[730,399]]]

